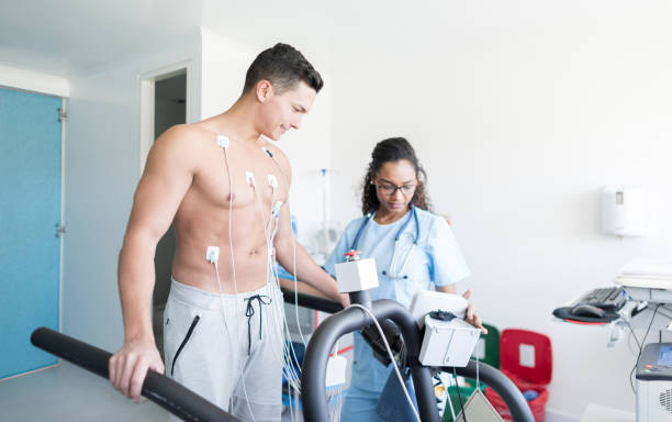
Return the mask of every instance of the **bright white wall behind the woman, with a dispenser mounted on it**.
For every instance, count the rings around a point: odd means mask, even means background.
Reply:
[[[672,254],[667,2],[340,3],[332,46],[334,211],[359,213],[376,142],[407,136],[450,215],[486,322],[551,337],[548,408],[634,411],[626,343],[555,322],[634,256]],[[371,30],[374,27],[376,30]],[[651,234],[600,234],[598,190],[647,187]],[[638,333],[642,335],[641,332]]]

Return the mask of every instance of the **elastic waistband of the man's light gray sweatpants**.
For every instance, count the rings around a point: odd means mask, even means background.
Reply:
[[[244,291],[235,295],[220,295],[201,290],[199,288],[181,284],[172,277],[170,277],[170,281],[169,297],[172,297],[189,306],[210,311],[219,311],[222,302],[224,304],[233,306],[236,302],[243,302],[257,295],[268,296],[269,298],[272,298],[272,302],[276,302],[282,298],[282,295],[279,293],[280,289],[272,281],[267,282],[265,286],[261,286],[256,290]]]

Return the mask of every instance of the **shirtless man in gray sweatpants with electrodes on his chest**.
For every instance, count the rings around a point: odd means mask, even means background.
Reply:
[[[150,368],[238,418],[280,419],[278,316],[283,311],[269,262],[275,256],[291,270],[295,254],[303,280],[343,300],[334,279],[292,236],[290,165],[265,137],[278,140],[299,129],[322,86],[301,53],[277,44],[253,62],[231,109],[173,126],[154,144],[119,259],[124,345],[109,369],[110,381],[124,396],[139,398]],[[273,216],[278,201],[282,204]],[[165,368],[150,302],[156,245],[171,222],[177,248],[164,318]],[[219,247],[219,257],[206,259],[209,246]]]

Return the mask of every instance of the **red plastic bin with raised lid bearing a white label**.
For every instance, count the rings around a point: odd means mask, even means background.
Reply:
[[[523,347],[534,348],[534,366],[523,363]],[[522,391],[534,390],[538,397],[527,403],[536,422],[545,422],[548,390],[546,386],[551,380],[552,353],[550,338],[547,335],[526,330],[504,330],[500,337],[500,369]],[[511,421],[511,413],[504,400],[492,388],[485,389],[485,397],[502,419]]]

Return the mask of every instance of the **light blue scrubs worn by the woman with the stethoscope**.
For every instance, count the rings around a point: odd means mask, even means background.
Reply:
[[[408,212],[392,224],[378,224],[373,219],[367,224],[359,238],[358,249],[361,258],[376,259],[379,287],[369,290],[371,300],[392,299],[404,307],[411,306],[413,296],[421,290],[429,290],[430,284],[448,286],[471,275],[462,252],[446,220],[428,211],[416,208],[419,223],[419,241],[413,249],[408,264],[402,274],[401,267],[408,256],[415,236],[415,221],[412,219],[400,236],[396,251],[395,268],[393,274],[406,279],[392,279],[390,264],[394,251],[394,236],[411,215]],[[350,251],[352,241],[366,216],[348,223],[338,244],[332,252],[325,269],[334,275],[334,265],[345,262],[345,253]],[[383,271],[385,275],[383,275]],[[361,334],[355,333],[355,359],[352,362],[352,386],[368,391],[382,391],[392,370],[392,366],[384,367],[373,357],[369,345]]]

